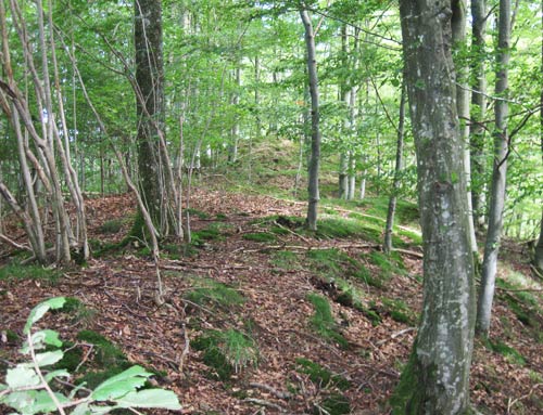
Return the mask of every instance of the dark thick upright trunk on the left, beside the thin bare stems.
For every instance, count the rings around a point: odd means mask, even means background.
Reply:
[[[164,69],[162,53],[162,7],[156,0],[135,0],[136,81],[140,98],[136,100],[138,117],[138,170],[141,196],[154,228],[167,230],[164,218],[166,185],[160,151],[164,131]],[[167,212],[166,212],[167,215]],[[140,217],[136,220],[141,225]],[[167,217],[166,217],[167,218]],[[141,230],[135,229],[136,233]]]

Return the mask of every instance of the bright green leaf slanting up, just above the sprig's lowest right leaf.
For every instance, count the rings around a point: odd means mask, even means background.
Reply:
[[[152,376],[141,366],[132,366],[116,376],[104,380],[92,392],[91,397],[96,401],[110,401],[118,399],[126,393],[142,387],[146,379]]]

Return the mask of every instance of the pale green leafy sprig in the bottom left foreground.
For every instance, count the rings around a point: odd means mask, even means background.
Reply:
[[[60,390],[54,391],[51,381],[55,378],[68,378],[70,373],[65,369],[45,372],[45,368],[62,361],[64,352],[61,349],[38,353],[36,351],[43,350],[46,347],[61,347],[62,341],[56,332],[46,329],[33,333],[31,328],[49,310],[60,309],[64,303],[63,297],[51,298],[30,311],[24,328],[27,341],[21,349],[21,352],[28,355],[30,361],[8,369],[5,385],[0,384],[0,403],[14,408],[22,415],[48,414],[71,406],[75,406],[73,414],[78,415],[101,415],[116,408],[180,408],[177,397],[171,391],[138,390],[152,376],[140,366],[131,366],[103,380],[84,399],[74,400],[77,388],[68,395]],[[103,338],[96,335],[90,337],[97,342],[104,342]]]

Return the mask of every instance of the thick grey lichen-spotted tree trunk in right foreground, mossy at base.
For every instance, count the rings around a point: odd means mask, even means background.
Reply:
[[[475,288],[451,55],[451,0],[400,2],[424,241],[422,315],[395,414],[466,414]]]

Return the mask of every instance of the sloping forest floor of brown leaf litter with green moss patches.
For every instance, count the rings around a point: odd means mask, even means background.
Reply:
[[[421,302],[416,236],[404,236],[394,260],[383,261],[371,228],[377,219],[362,205],[324,207],[325,229],[312,235],[295,220],[304,217],[303,203],[199,190],[191,203],[193,244],[167,246],[161,260],[166,303],[157,307],[146,248],[108,250],[106,243],[129,230],[134,206],[128,195],[88,200],[91,238],[101,251],[87,265],[54,280],[0,273],[2,373],[20,359],[29,310],[66,296],[78,307],[46,324],[78,345],[77,376],[98,371],[98,346],[76,338],[91,329],[130,363],[156,371],[155,384],[178,394],[185,414],[389,413]],[[21,241],[23,231],[11,235]],[[483,413],[543,413],[541,286],[530,282],[519,249],[506,251],[490,341],[475,346],[471,400]],[[2,246],[5,270],[10,256]],[[523,275],[529,286],[507,282],[510,275]],[[206,349],[213,339],[215,354]]]

